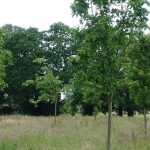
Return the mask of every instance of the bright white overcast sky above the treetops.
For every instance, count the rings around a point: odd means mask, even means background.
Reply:
[[[0,0],[0,26],[13,24],[20,27],[36,27],[47,30],[55,22],[71,27],[79,20],[72,17],[73,0]]]

